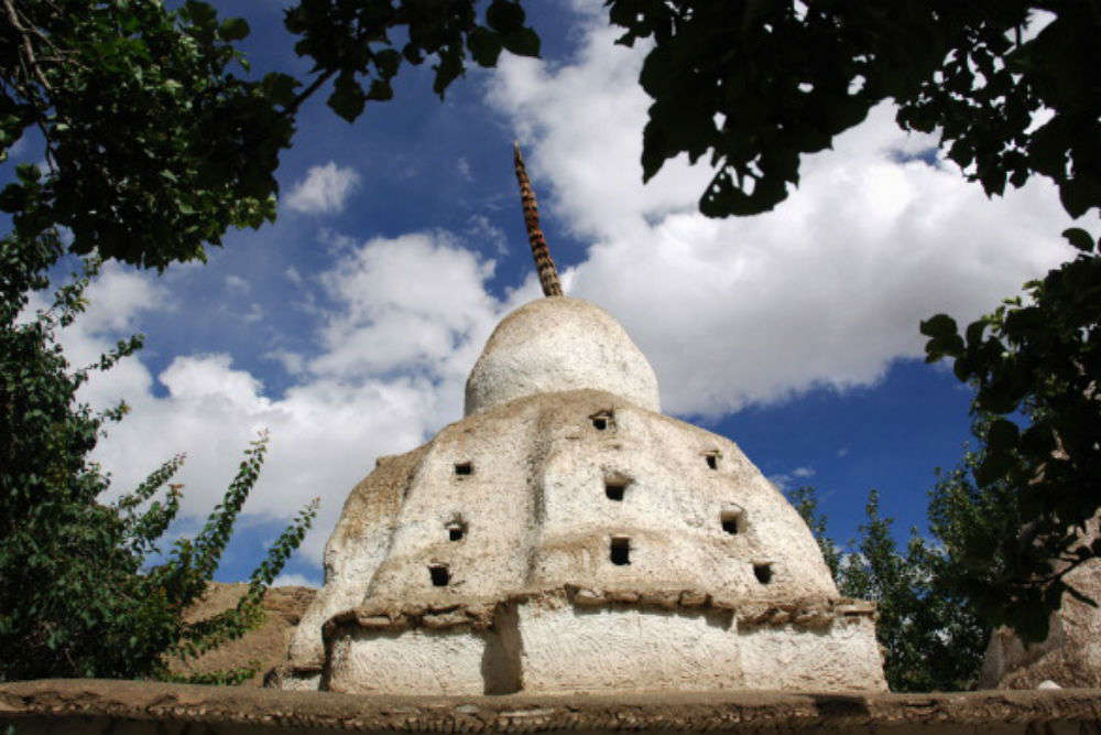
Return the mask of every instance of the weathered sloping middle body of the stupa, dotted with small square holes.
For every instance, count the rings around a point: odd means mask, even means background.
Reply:
[[[613,563],[612,539],[630,563]],[[433,584],[433,566],[446,566],[447,584]],[[570,584],[837,597],[806,526],[735,444],[610,393],[570,391],[484,411],[380,460],[349,496],[291,659],[319,667],[321,625],[351,607],[495,602]]]

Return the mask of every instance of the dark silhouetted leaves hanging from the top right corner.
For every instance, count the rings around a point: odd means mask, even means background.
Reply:
[[[1055,0],[607,0],[619,43],[652,39],[643,175],[682,152],[718,167],[711,217],[765,212],[884,99],[988,194],[1051,179],[1071,216],[1101,205],[1101,31],[1093,2]],[[1055,14],[1022,41],[1036,10]],[[1043,110],[1050,119],[1035,130]]]

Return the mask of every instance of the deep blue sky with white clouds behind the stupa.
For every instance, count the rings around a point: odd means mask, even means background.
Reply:
[[[252,26],[255,72],[307,77],[280,2],[214,4]],[[375,457],[461,419],[493,326],[541,296],[519,140],[567,295],[621,321],[664,412],[730,437],[781,488],[814,485],[839,541],[872,488],[900,539],[924,531],[935,468],[955,466],[969,439],[971,392],[949,365],[924,363],[918,322],[967,323],[1069,259],[1054,186],[988,199],[884,104],[804,156],[798,190],[773,212],[705,218],[707,165],[677,159],[642,184],[645,45],[614,45],[599,0],[525,4],[542,58],[502,54],[443,101],[430,68],[407,66],[394,99],[353,125],[316,95],[281,158],[274,225],[232,231],[207,264],[161,277],[107,264],[62,342],[85,365],[146,335],[83,394],[131,407],[95,452],[111,494],[185,453],[171,532],[194,532],[266,429],[268,461],[216,579],[247,579],[318,497],[280,582],[319,584],[351,487]],[[22,147],[0,174],[35,155]]]

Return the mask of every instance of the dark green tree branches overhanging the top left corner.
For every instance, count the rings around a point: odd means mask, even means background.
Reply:
[[[536,55],[516,2],[493,0],[486,25],[472,0],[303,0],[286,25],[316,76],[238,76],[244,20],[205,2],[170,11],[159,0],[4,0],[0,12],[0,160],[28,130],[47,171],[24,165],[0,192],[22,240],[58,227],[68,250],[163,270],[205,258],[229,227],[275,216],[279,154],[303,102],[336,76],[329,106],[355,120],[389,99],[403,62],[435,58],[442,96],[470,50],[492,66],[502,48]],[[395,46],[389,34],[404,37]],[[367,77],[362,83],[357,75]]]

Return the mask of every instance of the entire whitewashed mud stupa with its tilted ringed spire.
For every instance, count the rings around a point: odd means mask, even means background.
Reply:
[[[466,415],[379,458],[325,551],[284,689],[380,694],[885,690],[874,606],[729,440],[661,414],[619,323],[560,294],[506,316]]]

